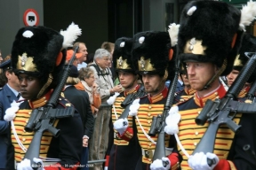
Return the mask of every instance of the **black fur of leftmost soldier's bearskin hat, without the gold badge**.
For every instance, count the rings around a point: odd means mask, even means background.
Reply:
[[[24,33],[32,33],[30,37],[24,36]],[[17,69],[19,56],[27,53],[28,57],[33,58],[38,72],[31,73],[38,77],[47,77],[49,73],[58,74],[63,67],[66,58],[66,52],[63,52],[63,58],[59,66],[55,67],[56,58],[62,48],[63,36],[59,32],[48,27],[22,27],[15,37],[12,45],[12,68]],[[56,75],[58,76],[58,75]]]

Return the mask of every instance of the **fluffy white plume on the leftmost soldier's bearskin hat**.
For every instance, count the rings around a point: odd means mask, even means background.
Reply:
[[[67,30],[63,31],[60,30],[60,35],[64,36],[64,41],[62,43],[62,48],[66,49],[68,47],[73,46],[73,42],[76,41],[78,35],[82,35],[81,28],[78,27],[78,25],[75,25],[74,22],[72,22]]]

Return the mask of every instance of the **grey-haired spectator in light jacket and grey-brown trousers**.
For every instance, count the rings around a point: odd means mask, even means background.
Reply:
[[[113,85],[111,72],[108,68],[110,58],[111,55],[108,50],[98,49],[95,51],[92,65],[89,66],[94,72],[95,82],[98,89],[100,89],[100,98],[103,104],[101,104],[98,116],[95,120],[92,140],[97,143],[90,143],[90,160],[103,159],[105,156],[108,147],[108,124],[111,112],[111,106],[109,106],[106,101],[110,95],[122,91],[122,86],[114,87]],[[100,169],[100,164],[94,166],[93,169]]]

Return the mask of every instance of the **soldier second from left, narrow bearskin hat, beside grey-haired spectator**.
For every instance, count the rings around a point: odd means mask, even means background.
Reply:
[[[127,97],[127,95],[129,94],[137,93],[138,89],[140,89],[140,84],[138,84],[139,75],[136,73],[136,67],[132,65],[131,52],[132,38],[122,37],[116,40],[115,50],[113,53],[113,64],[116,68],[116,74],[118,75],[118,79],[120,81],[120,84],[124,88],[124,91],[120,93],[118,97],[116,97],[116,101],[112,106],[113,124],[115,124],[116,120],[118,120],[120,118],[120,115],[124,112],[124,108],[121,106],[121,104],[124,102],[124,98]],[[111,104],[113,102],[114,101],[111,101]],[[126,117],[129,121],[129,127],[132,128],[134,118],[128,115]],[[110,124],[112,124],[112,122],[110,122]],[[112,143],[110,142],[111,138]],[[110,153],[108,170],[132,170],[135,168],[137,160],[140,158],[141,155],[138,138],[134,136],[134,138],[132,138],[132,140],[129,142],[119,138],[116,134],[116,131],[113,131],[113,125],[112,128],[110,128],[108,136],[108,152]],[[130,163],[126,164],[128,159]]]

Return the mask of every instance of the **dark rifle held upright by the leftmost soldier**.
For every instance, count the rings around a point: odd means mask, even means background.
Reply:
[[[28,151],[26,151],[24,157],[30,160],[31,167],[33,169],[38,169],[40,166],[42,166],[40,164],[36,164],[33,161],[33,158],[39,158],[41,138],[44,132],[49,131],[53,136],[57,137],[60,135],[60,129],[53,127],[55,120],[74,116],[74,107],[67,107],[65,109],[57,109],[55,107],[58,104],[57,101],[60,97],[61,90],[67,81],[69,67],[72,66],[76,58],[77,50],[78,47],[76,47],[76,50],[74,50],[73,56],[68,65],[65,66],[60,84],[56,87],[56,89],[53,90],[49,101],[43,107],[36,108],[31,112],[28,124],[25,127],[25,130],[28,132],[35,131],[35,135],[33,136],[32,142],[30,143]]]

